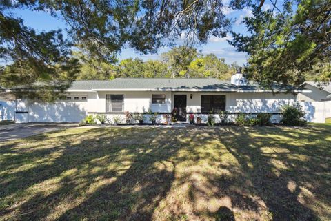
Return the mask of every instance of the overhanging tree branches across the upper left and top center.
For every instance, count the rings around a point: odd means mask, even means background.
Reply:
[[[61,30],[36,32],[13,14],[15,9],[45,11],[63,19],[68,38]],[[79,64],[70,56],[74,44],[94,59],[114,61],[125,46],[142,53],[157,52],[186,35],[190,42],[206,42],[210,35],[225,37],[230,21],[221,0],[4,0],[0,3],[0,59],[8,86],[43,81],[50,88],[65,76],[74,78]],[[58,81],[57,81],[58,82]],[[40,86],[40,85],[39,85]]]

